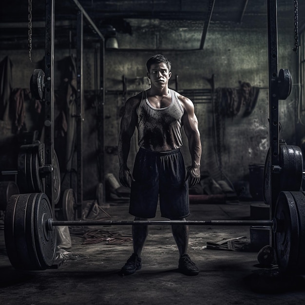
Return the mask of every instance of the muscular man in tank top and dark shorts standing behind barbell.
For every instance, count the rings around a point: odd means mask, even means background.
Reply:
[[[201,142],[198,120],[191,100],[169,89],[171,62],[163,55],[147,61],[147,76],[151,88],[129,98],[121,120],[118,142],[119,179],[131,187],[129,212],[134,220],[155,217],[159,198],[161,216],[185,220],[190,215],[189,184],[200,179]],[[184,127],[191,152],[191,168],[186,173],[180,152]],[[127,166],[131,138],[138,129],[139,151],[133,173]],[[133,225],[133,254],[121,269],[121,274],[133,274],[141,268],[141,251],[148,234],[147,225]],[[187,254],[189,228],[172,225],[172,234],[180,258],[178,268],[186,275],[199,270]]]

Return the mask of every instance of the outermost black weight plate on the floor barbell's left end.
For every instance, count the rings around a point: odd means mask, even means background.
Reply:
[[[7,256],[13,267],[16,269],[22,268],[22,262],[17,252],[15,237],[14,237],[14,222],[15,222],[15,209],[19,199],[18,195],[12,195],[7,202],[4,218],[4,239]]]

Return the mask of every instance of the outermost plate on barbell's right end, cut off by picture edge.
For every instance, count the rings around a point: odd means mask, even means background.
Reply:
[[[292,191],[294,202],[299,216],[299,257],[297,260],[297,267],[299,274],[305,274],[305,193],[303,191]]]

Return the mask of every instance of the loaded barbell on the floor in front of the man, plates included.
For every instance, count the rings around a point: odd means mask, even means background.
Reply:
[[[13,267],[23,270],[45,270],[54,265],[56,226],[117,226],[117,225],[208,225],[208,226],[269,226],[281,272],[305,274],[305,192],[282,191],[272,220],[170,220],[170,221],[103,221],[53,220],[45,193],[12,195],[8,201],[4,237]]]

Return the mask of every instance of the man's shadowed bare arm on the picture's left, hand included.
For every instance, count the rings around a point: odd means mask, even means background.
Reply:
[[[121,119],[120,134],[118,140],[118,159],[119,159],[119,180],[124,187],[131,187],[130,177],[133,179],[132,172],[127,166],[127,159],[130,151],[130,142],[137,122],[136,109],[139,104],[137,96],[131,97],[126,101],[124,114]]]

